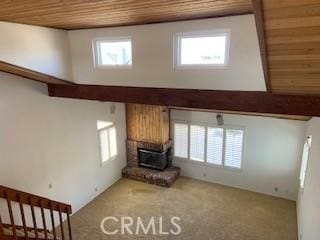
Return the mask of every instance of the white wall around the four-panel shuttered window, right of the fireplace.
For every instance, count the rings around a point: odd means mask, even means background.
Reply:
[[[216,123],[216,114],[209,112],[173,110],[171,118]],[[175,159],[182,175],[296,200],[306,122],[224,114],[224,123],[245,127],[243,169],[204,167]]]

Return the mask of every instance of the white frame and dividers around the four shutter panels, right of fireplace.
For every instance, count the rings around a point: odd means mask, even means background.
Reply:
[[[180,124],[186,124],[188,125],[188,157],[187,158],[182,158],[182,157],[177,157],[173,154],[173,158],[181,161],[186,161],[188,163],[196,164],[196,165],[202,165],[202,166],[208,166],[208,167],[214,167],[214,168],[221,168],[221,169],[229,169],[233,171],[240,171],[242,172],[243,170],[243,161],[245,159],[245,137],[246,137],[246,127],[244,126],[238,126],[238,125],[223,125],[219,126],[218,124],[209,124],[209,123],[203,123],[203,122],[195,122],[195,121],[181,121],[181,120],[173,120],[171,122],[171,126],[173,129],[173,136],[174,136],[174,124],[175,123],[180,123]],[[204,149],[204,161],[195,161],[190,158],[190,125],[198,125],[198,126],[203,126],[205,127],[205,149]],[[214,163],[209,163],[207,162],[207,141],[208,141],[208,127],[211,128],[222,128],[223,129],[223,146],[222,146],[222,164],[214,164]],[[230,166],[225,166],[225,146],[226,146],[226,130],[227,129],[234,129],[234,130],[242,130],[243,131],[243,138],[242,138],[242,152],[241,152],[241,166],[240,168],[235,168],[235,167],[230,167]],[[174,150],[174,146],[173,146]],[[174,151],[173,151],[174,153]]]

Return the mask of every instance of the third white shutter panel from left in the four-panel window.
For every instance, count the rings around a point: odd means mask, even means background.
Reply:
[[[207,129],[207,162],[222,165],[223,128]]]

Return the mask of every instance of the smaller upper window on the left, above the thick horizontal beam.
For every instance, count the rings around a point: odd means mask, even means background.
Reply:
[[[131,67],[132,46],[130,38],[94,40],[95,67]]]

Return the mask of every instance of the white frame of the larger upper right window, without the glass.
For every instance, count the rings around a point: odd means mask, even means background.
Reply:
[[[219,37],[226,36],[226,49],[224,64],[181,64],[181,39],[194,37]],[[175,69],[224,69],[229,66],[230,29],[217,29],[209,31],[195,31],[174,34],[174,68]]]

